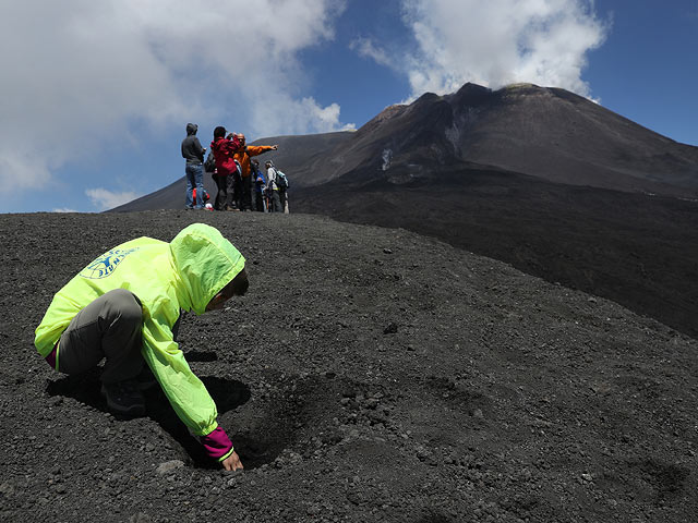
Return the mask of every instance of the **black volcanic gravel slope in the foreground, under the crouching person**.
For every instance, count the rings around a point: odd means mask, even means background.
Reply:
[[[95,256],[192,221],[251,287],[181,348],[243,463],[157,391],[118,419],[34,329]],[[695,522],[698,343],[404,230],[305,215],[1,215],[1,521]]]

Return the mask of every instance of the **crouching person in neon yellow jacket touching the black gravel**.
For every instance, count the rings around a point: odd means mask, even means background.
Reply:
[[[216,421],[216,404],[174,341],[180,312],[221,308],[248,290],[244,257],[213,227],[194,223],[170,242],[139,238],[103,254],[55,296],[35,345],[56,370],[81,374],[105,361],[109,409],[143,415],[153,375],[208,455],[242,469]],[[148,372],[149,369],[149,372]],[[151,374],[152,372],[152,374]]]

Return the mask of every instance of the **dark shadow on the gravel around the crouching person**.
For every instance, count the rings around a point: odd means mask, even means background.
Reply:
[[[94,368],[85,374],[76,376],[65,376],[56,381],[49,381],[46,392],[53,396],[73,398],[76,401],[97,409],[101,412],[110,412],[107,402],[100,393],[101,382],[99,381],[99,368]],[[216,376],[204,376],[200,378],[208,393],[216,402],[218,414],[237,409],[250,400],[250,388],[234,379],[218,378]],[[167,431],[174,441],[182,446],[189,454],[194,466],[203,469],[218,469],[220,465],[207,457],[204,447],[197,439],[189,433],[186,426],[177,417],[170,406],[163,389],[155,384],[144,391],[146,401],[146,416],[156,422]],[[115,414],[119,419],[119,415]]]

